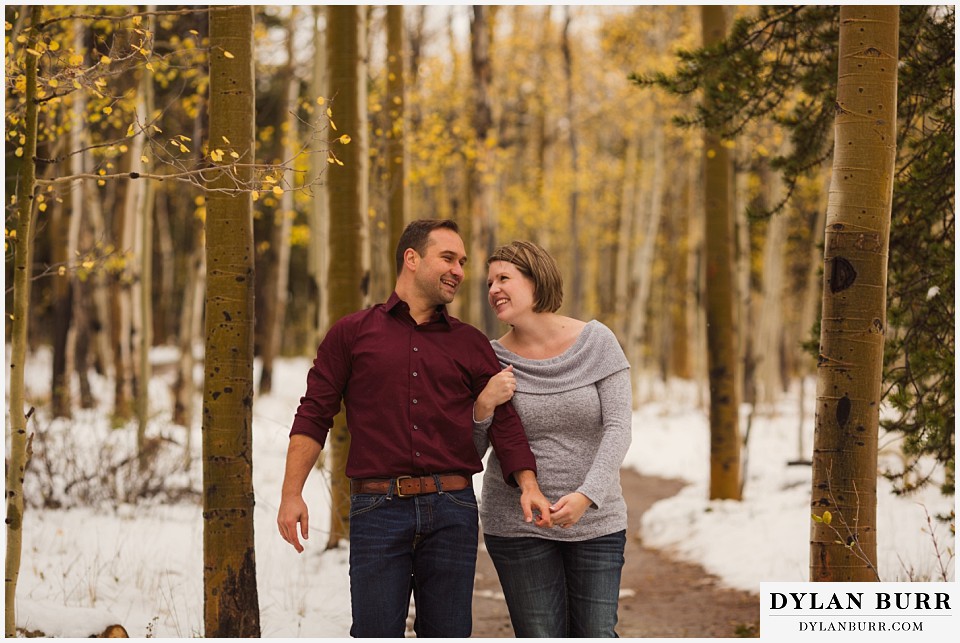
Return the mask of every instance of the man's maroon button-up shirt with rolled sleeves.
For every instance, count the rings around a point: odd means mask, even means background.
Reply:
[[[348,315],[327,332],[290,435],[307,435],[322,446],[342,399],[350,430],[348,477],[471,475],[483,470],[473,444],[473,405],[499,371],[479,330],[443,306],[418,325],[393,293],[387,303]],[[490,443],[509,484],[516,471],[536,471],[512,404],[494,412]]]

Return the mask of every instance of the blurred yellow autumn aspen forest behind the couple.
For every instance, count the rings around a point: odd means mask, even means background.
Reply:
[[[258,6],[253,163],[211,123],[214,66],[243,51],[214,40],[210,12],[152,9],[5,7],[6,310],[14,252],[29,245],[25,354],[54,356],[49,398],[25,408],[56,431],[69,426],[56,418],[97,406],[137,436],[133,453],[93,469],[34,438],[30,466],[50,484],[34,485],[28,506],[198,497],[195,480],[178,487],[162,467],[173,452],[184,467],[200,457],[189,429],[205,421],[204,312],[220,292],[208,282],[208,210],[231,190],[250,197],[258,394],[278,356],[312,355],[332,319],[386,299],[398,221],[449,217],[471,255],[456,316],[498,336],[483,259],[533,240],[564,269],[561,312],[617,334],[635,405],[656,395],[651,382],[681,379],[706,406],[710,130],[731,164],[738,396],[752,413],[816,372],[836,7],[730,7],[729,24],[742,22],[725,45],[678,54],[702,45],[699,7]],[[951,6],[900,12],[882,381],[887,447],[902,456],[886,473],[902,493],[929,480],[953,493],[953,34]],[[25,237],[27,166],[38,189]],[[208,182],[216,167],[232,172],[228,188]],[[158,346],[175,357],[151,361]],[[109,400],[95,399],[91,373],[113,382]],[[158,373],[169,409],[150,408],[141,384]]]

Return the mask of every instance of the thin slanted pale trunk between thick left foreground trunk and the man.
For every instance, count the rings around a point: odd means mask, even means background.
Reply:
[[[297,78],[296,60],[294,56],[293,35],[299,18],[296,6],[290,7],[290,17],[287,23],[287,107],[284,113],[286,120],[280,127],[283,137],[284,162],[292,159],[296,154],[297,144],[297,102],[300,98],[300,79]],[[290,231],[293,229],[293,218],[296,210],[293,204],[294,174],[292,171],[284,173],[282,184],[285,191],[280,197],[279,210],[275,216],[279,221],[273,222],[273,234],[270,239],[269,260],[266,266],[264,283],[267,287],[264,294],[264,332],[263,349],[260,354],[260,394],[265,395],[273,390],[273,362],[280,354],[283,345],[283,326],[287,317],[287,290],[290,285]]]

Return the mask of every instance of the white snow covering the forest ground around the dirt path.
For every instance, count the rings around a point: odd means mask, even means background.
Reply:
[[[158,352],[155,358],[164,356]],[[345,546],[324,551],[330,519],[322,472],[315,471],[307,481],[311,522],[303,554],[283,542],[275,523],[287,431],[309,365],[305,358],[281,360],[275,367],[275,392],[258,398],[253,411],[256,563],[264,637],[349,636],[348,552]],[[48,353],[31,355],[27,380],[34,399],[47,397],[49,369]],[[110,387],[102,380],[94,384],[104,408],[109,408]],[[812,388],[808,386],[804,401],[802,440],[796,394],[775,408],[758,410],[749,440],[744,499],[731,502],[707,500],[708,425],[696,389],[687,384],[649,384],[634,415],[634,439],[625,466],[689,484],[645,514],[640,534],[644,543],[703,565],[730,587],[757,592],[761,580],[806,580],[810,467],[788,461],[808,459],[812,451]],[[158,376],[150,393],[155,414],[151,434],[182,444],[184,429],[169,423],[168,382]],[[65,424],[42,419],[42,413],[38,416],[31,430],[63,434],[58,448],[75,451],[78,460],[80,452],[88,458],[108,457],[132,432],[111,431],[103,412],[78,413]],[[199,434],[198,424],[192,436],[193,479],[199,477]],[[114,446],[105,449],[105,443]],[[475,480],[479,483],[480,476]],[[946,512],[954,506],[953,499],[941,498],[935,489],[907,499],[888,490],[881,481],[881,577],[937,580],[933,541],[941,551],[953,550],[954,543],[943,525],[937,526],[936,538],[931,537],[924,507],[931,515]],[[952,562],[948,574],[953,580]],[[201,636],[199,506],[153,502],[28,509],[17,622],[59,636],[86,636],[109,622],[121,623],[134,637]]]

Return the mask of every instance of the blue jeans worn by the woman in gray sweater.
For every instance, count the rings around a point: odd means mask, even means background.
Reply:
[[[626,531],[578,542],[484,534],[517,637],[616,638]]]

